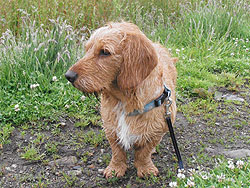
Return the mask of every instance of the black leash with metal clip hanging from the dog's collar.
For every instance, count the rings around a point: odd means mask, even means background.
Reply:
[[[173,142],[174,150],[175,150],[175,153],[176,153],[176,156],[177,156],[177,159],[178,159],[179,168],[184,169],[183,162],[182,162],[182,159],[181,159],[181,154],[180,154],[180,151],[179,151],[179,148],[178,148],[178,144],[177,144],[177,141],[176,141],[176,138],[175,138],[175,135],[174,135],[174,129],[173,129],[172,122],[171,122],[171,112],[169,110],[169,107],[172,104],[172,100],[170,99],[171,90],[168,89],[168,88],[165,88],[165,89],[167,89],[167,91],[168,91],[168,97],[167,97],[167,100],[166,100],[166,122],[168,124],[168,129],[169,129],[169,132],[170,132],[171,140]]]

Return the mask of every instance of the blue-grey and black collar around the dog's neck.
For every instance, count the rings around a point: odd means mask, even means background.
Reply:
[[[171,90],[164,85],[164,91],[161,94],[161,96],[146,104],[143,110],[134,110],[133,112],[130,112],[128,116],[136,116],[139,114],[143,114],[152,110],[153,108],[159,107],[164,103],[165,99],[169,98],[170,96],[171,96]]]

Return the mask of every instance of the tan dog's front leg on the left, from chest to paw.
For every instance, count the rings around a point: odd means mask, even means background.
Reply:
[[[112,159],[108,167],[104,170],[104,176],[106,178],[110,178],[112,177],[112,175],[121,177],[125,174],[127,170],[126,152],[118,144],[117,137],[114,133],[107,134],[106,132],[106,136],[112,149]]]

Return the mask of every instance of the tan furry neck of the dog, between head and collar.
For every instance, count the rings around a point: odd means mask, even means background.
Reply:
[[[113,83],[110,88],[103,91],[103,94],[113,97],[117,102],[124,104],[127,113],[133,112],[135,109],[142,110],[147,103],[162,94],[164,90],[162,72],[162,67],[158,64],[149,76],[135,89],[121,91]]]

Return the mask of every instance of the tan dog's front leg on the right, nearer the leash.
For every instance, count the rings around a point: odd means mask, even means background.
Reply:
[[[160,143],[161,137],[158,139],[151,139],[135,147],[135,162],[137,168],[137,175],[144,177],[150,174],[157,176],[159,171],[152,162],[151,154],[154,148]]]

